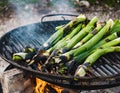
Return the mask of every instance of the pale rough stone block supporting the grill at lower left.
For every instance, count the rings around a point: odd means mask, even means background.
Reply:
[[[1,80],[3,93],[33,93],[34,87],[30,77],[25,77],[23,71],[11,69],[5,71]]]

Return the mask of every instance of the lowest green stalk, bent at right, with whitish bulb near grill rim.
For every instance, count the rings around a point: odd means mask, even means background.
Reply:
[[[97,62],[97,59],[102,55],[105,55],[110,52],[120,52],[120,46],[114,46],[109,48],[97,49],[94,53],[92,53],[88,58],[84,61],[83,64],[78,66],[75,76],[84,77],[89,70],[89,67]]]

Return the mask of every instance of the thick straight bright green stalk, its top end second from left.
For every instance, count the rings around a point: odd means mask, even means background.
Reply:
[[[77,35],[75,35],[72,39],[68,41],[66,47],[61,49],[61,52],[64,53],[72,49],[81,39],[83,39],[89,32],[94,29],[94,25],[98,21],[98,18],[95,16],[90,20],[90,22],[84,27]]]

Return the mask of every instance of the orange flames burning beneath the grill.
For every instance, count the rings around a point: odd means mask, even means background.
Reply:
[[[35,93],[49,93],[51,90],[61,93],[63,88],[36,78]]]

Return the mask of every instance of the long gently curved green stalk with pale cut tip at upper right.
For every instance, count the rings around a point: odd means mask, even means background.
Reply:
[[[61,61],[69,61],[72,57],[78,56],[81,53],[89,50],[91,47],[93,47],[95,44],[97,44],[103,36],[109,31],[109,29],[113,26],[113,21],[110,19],[106,25],[88,42],[83,44],[77,49],[71,50],[67,53],[64,53],[60,56]]]

